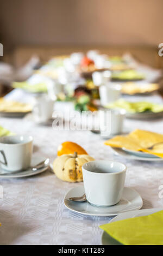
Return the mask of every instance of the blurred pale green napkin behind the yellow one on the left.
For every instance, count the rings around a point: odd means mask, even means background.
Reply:
[[[24,89],[28,92],[33,92],[33,93],[47,92],[47,86],[46,86],[45,82],[35,84],[35,85],[31,85],[26,81],[24,81],[24,82],[13,82],[12,87],[22,88],[22,89]]]

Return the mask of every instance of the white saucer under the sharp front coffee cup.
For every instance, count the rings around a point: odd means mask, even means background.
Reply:
[[[93,206],[87,201],[83,203],[70,201],[70,197],[80,197],[85,193],[84,186],[70,189],[65,195],[64,205],[67,209],[83,215],[92,216],[116,216],[122,212],[141,209],[143,201],[139,193],[134,189],[124,188],[120,203],[114,206]]]

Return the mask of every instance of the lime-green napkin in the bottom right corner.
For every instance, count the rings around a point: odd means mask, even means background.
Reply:
[[[123,245],[163,245],[163,211],[101,225]]]

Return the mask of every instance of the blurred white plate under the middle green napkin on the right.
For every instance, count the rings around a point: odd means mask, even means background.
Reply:
[[[163,117],[163,111],[154,113],[154,112],[142,112],[142,113],[127,113],[126,114],[127,118],[131,119],[139,119],[139,120],[147,120],[147,119],[154,119],[154,118],[160,118]]]

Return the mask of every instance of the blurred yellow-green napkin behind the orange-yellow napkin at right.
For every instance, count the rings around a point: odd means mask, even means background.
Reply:
[[[163,105],[155,104],[151,102],[127,102],[124,99],[118,99],[114,103],[106,105],[109,109],[125,109],[129,113],[141,113],[145,111],[151,111],[158,113],[163,111]]]

